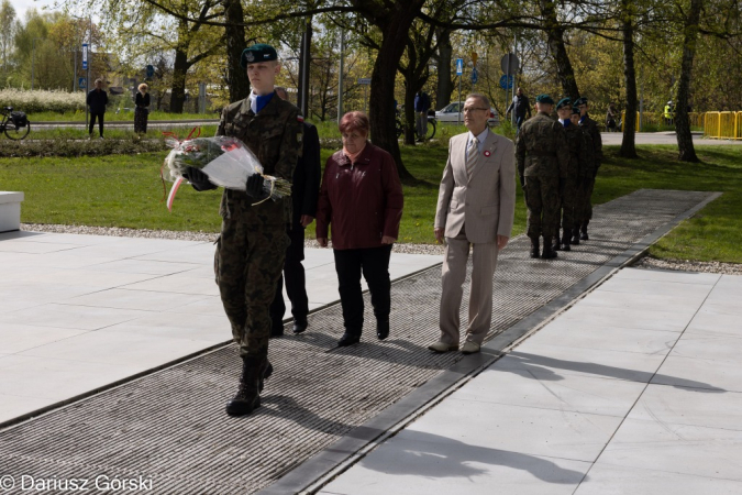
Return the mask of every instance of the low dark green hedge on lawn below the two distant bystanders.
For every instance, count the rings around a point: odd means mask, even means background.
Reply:
[[[0,157],[136,155],[166,150],[169,147],[162,140],[3,140]]]

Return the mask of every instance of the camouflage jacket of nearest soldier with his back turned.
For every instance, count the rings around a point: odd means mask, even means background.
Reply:
[[[516,140],[516,162],[521,177],[566,178],[569,150],[564,127],[543,112],[527,120]]]

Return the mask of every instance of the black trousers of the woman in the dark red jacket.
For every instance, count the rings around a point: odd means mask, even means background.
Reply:
[[[374,316],[388,320],[391,311],[391,282],[389,279],[389,256],[391,244],[361,250],[334,250],[337,272],[340,304],[343,307],[345,331],[359,336],[363,331],[363,273],[370,292]]]

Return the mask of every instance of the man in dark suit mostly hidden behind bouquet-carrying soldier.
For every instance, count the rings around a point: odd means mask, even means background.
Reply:
[[[286,89],[276,88],[276,95],[283,100],[288,100]],[[304,229],[314,221],[317,213],[317,199],[320,191],[322,172],[320,169],[320,138],[317,128],[304,122],[303,151],[297,167],[294,170],[291,187],[292,218],[288,226],[288,235],[291,245],[286,250],[284,263],[284,278],[286,279],[286,293],[291,301],[291,315],[294,316],[294,333],[307,330],[307,314],[309,312],[309,299],[307,298],[307,280],[304,267],[301,262],[304,258]],[[278,279],[276,297],[270,305],[270,320],[273,329],[270,337],[284,334],[284,282]]]

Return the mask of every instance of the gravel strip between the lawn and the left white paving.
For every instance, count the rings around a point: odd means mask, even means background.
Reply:
[[[45,223],[21,223],[21,230],[32,232],[71,233],[84,235],[112,235],[117,238],[147,238],[170,239],[177,241],[214,242],[218,232],[203,231],[175,231],[175,230],[149,230],[149,229],[124,229],[120,227],[88,227],[88,226],[57,226]],[[304,241],[306,248],[319,249],[313,239]],[[440,244],[395,244],[395,253],[405,254],[433,254],[442,255],[443,245]]]

